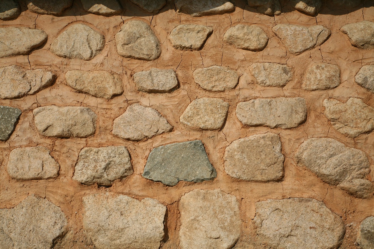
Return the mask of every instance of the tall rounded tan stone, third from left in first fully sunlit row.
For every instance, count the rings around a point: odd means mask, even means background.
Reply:
[[[160,42],[145,22],[126,22],[115,39],[117,52],[123,57],[153,61],[161,55]]]

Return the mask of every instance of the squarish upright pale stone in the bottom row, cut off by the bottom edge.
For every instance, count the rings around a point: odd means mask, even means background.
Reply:
[[[181,197],[181,249],[229,249],[240,235],[236,197],[220,189],[193,190]]]

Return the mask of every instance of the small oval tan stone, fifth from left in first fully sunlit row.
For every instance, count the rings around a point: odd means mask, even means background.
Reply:
[[[240,49],[261,51],[263,50],[269,38],[266,33],[256,25],[238,24],[229,30],[223,36],[223,41]]]

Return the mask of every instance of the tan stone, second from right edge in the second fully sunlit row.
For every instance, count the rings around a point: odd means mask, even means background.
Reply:
[[[338,65],[328,63],[315,63],[311,65],[304,76],[301,87],[305,90],[327,90],[340,85],[340,68]]]

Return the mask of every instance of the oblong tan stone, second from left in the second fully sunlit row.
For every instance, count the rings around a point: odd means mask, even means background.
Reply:
[[[68,86],[98,98],[111,99],[123,93],[119,75],[107,71],[67,71],[65,80]]]

